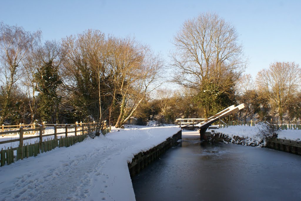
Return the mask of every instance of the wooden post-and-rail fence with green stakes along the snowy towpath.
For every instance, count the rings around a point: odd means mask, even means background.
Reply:
[[[10,126],[2,132],[0,135],[8,135],[8,134],[19,134],[18,139],[11,139],[6,141],[1,141],[0,144],[7,144],[11,142],[19,142],[18,147],[8,147],[6,149],[1,149],[0,151],[0,166],[4,166],[5,164],[9,165],[14,163],[15,160],[23,160],[23,158],[37,156],[39,153],[43,153],[45,151],[50,151],[56,147],[69,147],[74,145],[77,142],[82,142],[86,136],[88,131],[89,123],[75,123],[75,124],[41,124],[39,126],[35,125],[34,128],[28,127],[24,129],[23,125]],[[17,126],[19,128],[17,129]],[[26,125],[31,126],[31,125]],[[48,130],[49,127],[53,127],[54,132],[50,134],[45,134],[45,130]],[[64,129],[64,132],[57,132],[57,129]],[[73,131],[68,129],[74,128]],[[110,132],[111,128],[104,126],[102,130],[103,134],[107,134]],[[36,136],[24,137],[24,132],[26,133],[37,133]],[[74,136],[68,136],[68,134],[74,133]],[[65,134],[61,136],[60,139],[57,138],[57,135]],[[50,138],[53,136],[54,138]],[[49,137],[44,139],[43,137]],[[29,139],[37,139],[33,144],[25,144],[24,140]],[[16,157],[14,156],[14,151],[16,151]]]

